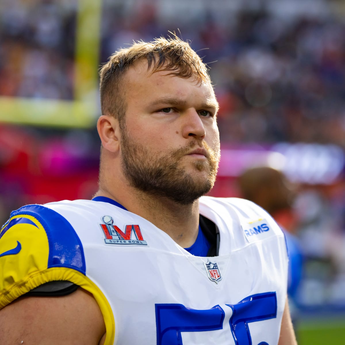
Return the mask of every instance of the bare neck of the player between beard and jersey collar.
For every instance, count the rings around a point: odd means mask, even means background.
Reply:
[[[150,221],[167,233],[183,248],[194,244],[199,229],[199,200],[181,205],[168,198],[151,196],[137,190],[124,196],[113,195],[100,189],[96,196],[105,196],[117,201],[128,211]]]

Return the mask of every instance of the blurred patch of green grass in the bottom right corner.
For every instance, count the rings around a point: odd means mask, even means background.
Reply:
[[[345,345],[345,320],[301,322],[296,336],[298,345]]]

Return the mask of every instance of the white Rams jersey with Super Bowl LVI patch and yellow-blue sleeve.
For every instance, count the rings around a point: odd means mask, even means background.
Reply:
[[[216,257],[189,254],[111,203],[24,206],[0,233],[0,308],[69,280],[97,300],[106,345],[277,344],[288,266],[282,231],[243,199],[202,197],[200,214],[219,230]],[[19,252],[6,254],[16,241]]]

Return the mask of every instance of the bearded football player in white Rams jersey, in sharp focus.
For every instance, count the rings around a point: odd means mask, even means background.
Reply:
[[[95,197],[24,206],[1,230],[1,343],[296,344],[281,229],[204,196],[220,158],[206,65],[174,36],[100,75]]]

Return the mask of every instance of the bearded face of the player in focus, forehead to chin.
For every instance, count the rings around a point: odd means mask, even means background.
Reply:
[[[217,101],[209,83],[151,74],[146,62],[125,76],[122,168],[131,186],[179,204],[214,185],[219,162]]]

